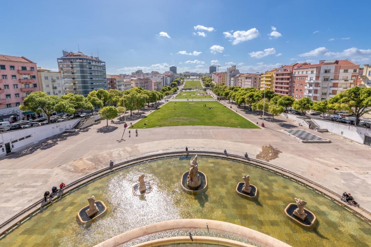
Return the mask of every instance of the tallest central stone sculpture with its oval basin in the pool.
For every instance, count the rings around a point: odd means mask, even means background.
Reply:
[[[204,173],[198,171],[197,154],[190,162],[189,171],[183,173],[181,186],[189,192],[197,192],[206,188],[207,178]]]

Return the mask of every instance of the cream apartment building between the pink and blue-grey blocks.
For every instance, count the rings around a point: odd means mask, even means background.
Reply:
[[[58,97],[65,94],[60,71],[51,71],[37,67],[37,77],[39,79],[40,91],[45,92],[47,95],[56,95]]]

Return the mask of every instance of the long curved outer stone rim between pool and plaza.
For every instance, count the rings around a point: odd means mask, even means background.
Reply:
[[[35,203],[30,204],[30,206],[22,210],[20,213],[9,218],[3,223],[0,223],[0,237],[3,234],[6,234],[7,231],[12,229],[14,226],[17,226],[17,224],[20,224],[20,222],[26,220],[30,216],[33,216],[33,214],[37,213],[37,211],[50,206],[55,201],[58,201],[59,198],[68,196],[70,192],[76,190],[80,186],[90,183],[93,180],[99,179],[100,177],[105,176],[109,173],[115,172],[119,169],[122,169],[128,166],[132,166],[134,164],[142,163],[145,161],[156,160],[159,158],[171,158],[171,157],[177,157],[177,156],[194,156],[196,154],[201,157],[204,156],[204,157],[213,157],[213,158],[224,158],[228,160],[243,162],[243,163],[247,163],[249,165],[256,166],[264,170],[268,170],[273,173],[279,174],[280,176],[286,177],[299,184],[302,184],[303,186],[306,186],[312,190],[315,190],[319,194],[322,194],[322,196],[328,197],[328,199],[339,204],[345,210],[348,210],[351,213],[354,213],[356,216],[358,216],[359,218],[361,218],[368,224],[371,224],[371,212],[365,210],[362,207],[358,207],[358,208],[348,207],[346,204],[341,203],[341,201],[339,201],[340,195],[337,194],[336,192],[331,191],[328,188],[321,186],[320,184],[317,184],[314,181],[309,180],[308,178],[302,177],[299,174],[286,170],[285,168],[275,166],[274,164],[267,163],[263,160],[254,159],[254,158],[245,158],[243,156],[239,156],[235,154],[224,154],[224,153],[215,152],[215,151],[174,151],[174,152],[155,153],[155,154],[150,154],[147,156],[142,156],[139,158],[134,158],[131,160],[123,161],[121,163],[117,163],[116,165],[112,167],[104,167],[96,171],[93,171],[92,173],[86,174],[85,176],[82,176],[78,178],[77,180],[66,185],[65,189],[63,190],[63,194],[55,196],[53,200],[48,201],[46,204],[40,205],[41,203],[44,202],[44,198],[37,200]]]

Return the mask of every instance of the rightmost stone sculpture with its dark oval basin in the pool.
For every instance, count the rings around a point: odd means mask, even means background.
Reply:
[[[295,198],[295,201],[296,203],[290,203],[285,208],[287,216],[304,227],[313,227],[316,222],[316,216],[304,208],[307,202],[298,198]]]

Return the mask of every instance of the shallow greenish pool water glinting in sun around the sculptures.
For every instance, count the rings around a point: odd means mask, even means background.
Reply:
[[[24,221],[1,238],[0,246],[92,246],[137,227],[179,218],[226,221],[292,246],[371,246],[369,224],[315,191],[249,164],[199,157],[199,170],[206,174],[208,188],[187,194],[180,177],[189,163],[190,157],[184,156],[158,159],[92,181]],[[131,186],[140,174],[151,181],[153,190],[134,196]],[[236,193],[244,174],[258,188],[257,200]],[[92,195],[105,203],[107,212],[92,223],[80,224],[76,214]],[[285,215],[283,210],[295,202],[294,197],[307,201],[306,208],[316,215],[318,222],[312,230]]]

